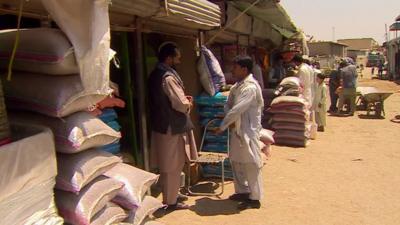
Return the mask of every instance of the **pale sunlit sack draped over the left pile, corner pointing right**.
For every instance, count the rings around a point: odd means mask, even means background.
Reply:
[[[112,201],[126,209],[139,207],[144,195],[159,177],[125,163],[117,164],[104,175],[125,184]]]

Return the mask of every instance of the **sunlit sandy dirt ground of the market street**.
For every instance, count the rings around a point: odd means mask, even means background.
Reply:
[[[367,72],[368,73],[368,72]],[[397,92],[386,100],[386,119],[328,117],[327,129],[303,148],[274,146],[264,167],[262,208],[239,212],[227,182],[218,198],[191,197],[191,210],[175,211],[157,219],[169,224],[400,224],[400,86],[371,80],[375,86]],[[357,112],[365,114],[365,112]]]

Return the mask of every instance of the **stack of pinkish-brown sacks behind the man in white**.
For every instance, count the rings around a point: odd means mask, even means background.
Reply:
[[[296,96],[279,96],[268,110],[273,114],[272,129],[275,143],[306,147],[311,135],[310,111],[307,102]]]

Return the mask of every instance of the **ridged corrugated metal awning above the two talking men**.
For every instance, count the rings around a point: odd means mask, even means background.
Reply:
[[[202,30],[221,25],[219,6],[206,0],[164,0],[161,9],[152,20]]]

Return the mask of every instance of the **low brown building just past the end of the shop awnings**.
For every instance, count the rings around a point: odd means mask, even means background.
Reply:
[[[310,56],[318,61],[321,68],[335,68],[340,58],[347,56],[347,45],[332,41],[309,42]]]

